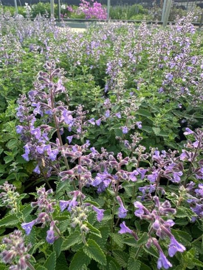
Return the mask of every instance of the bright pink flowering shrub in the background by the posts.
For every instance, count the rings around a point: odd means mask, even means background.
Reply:
[[[78,8],[78,14],[85,14],[85,19],[107,19],[107,9],[103,8],[100,3],[94,2],[91,0],[92,5],[85,1],[81,0],[80,7]]]

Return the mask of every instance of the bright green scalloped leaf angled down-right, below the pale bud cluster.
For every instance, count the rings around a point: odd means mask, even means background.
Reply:
[[[101,265],[107,265],[107,259],[104,252],[94,240],[89,239],[87,241],[87,244],[83,247],[83,251],[88,257],[94,259]]]

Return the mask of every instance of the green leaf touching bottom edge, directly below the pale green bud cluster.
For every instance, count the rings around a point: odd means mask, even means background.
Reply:
[[[79,270],[82,269],[83,265],[88,265],[91,259],[83,252],[82,249],[79,249],[74,255],[69,270]]]

